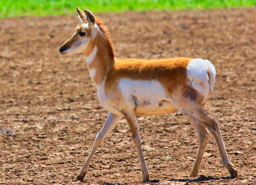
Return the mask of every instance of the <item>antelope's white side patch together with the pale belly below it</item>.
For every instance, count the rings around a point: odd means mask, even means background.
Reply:
[[[136,116],[163,114],[175,109],[158,81],[121,79],[118,87],[127,106],[135,109]]]

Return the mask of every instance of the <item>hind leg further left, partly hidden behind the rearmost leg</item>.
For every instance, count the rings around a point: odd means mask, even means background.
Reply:
[[[199,125],[193,119],[191,120],[191,123],[194,125],[194,127],[197,131],[197,134],[198,134],[199,149],[198,149],[196,161],[194,163],[194,167],[193,167],[189,176],[190,177],[196,177],[196,176],[198,176],[201,161],[202,161],[202,158],[203,158],[203,153],[204,153],[204,150],[205,150],[207,139],[209,137],[209,132],[206,130],[206,128],[204,126]]]

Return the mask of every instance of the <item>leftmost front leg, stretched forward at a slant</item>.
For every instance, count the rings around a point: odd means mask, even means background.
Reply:
[[[81,171],[77,175],[75,181],[79,180],[79,181],[82,182],[84,180],[84,177],[85,177],[85,175],[86,175],[86,173],[88,171],[88,167],[89,167],[89,164],[90,164],[90,162],[92,160],[92,157],[94,156],[94,154],[97,151],[98,147],[102,143],[103,139],[114,128],[114,126],[116,125],[117,121],[120,118],[121,118],[121,116],[117,116],[115,114],[108,113],[106,122],[105,122],[103,128],[101,129],[101,131],[99,132],[99,134],[97,135],[97,137],[96,137],[96,139],[94,141],[93,147],[91,149],[91,153],[89,154],[86,162],[83,165],[83,168],[81,169]]]

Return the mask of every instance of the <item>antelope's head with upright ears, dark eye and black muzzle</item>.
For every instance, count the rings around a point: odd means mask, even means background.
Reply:
[[[89,10],[84,10],[86,15],[79,8],[76,8],[76,10],[82,25],[77,26],[73,36],[59,48],[61,54],[86,51],[91,40],[97,34],[98,29],[95,16]]]

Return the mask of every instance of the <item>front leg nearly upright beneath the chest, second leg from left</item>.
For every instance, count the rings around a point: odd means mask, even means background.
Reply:
[[[149,171],[147,168],[147,164],[143,155],[142,147],[141,147],[141,140],[140,140],[140,135],[139,135],[139,124],[136,119],[135,113],[132,110],[124,110],[122,112],[124,118],[128,122],[134,143],[136,145],[137,151],[139,153],[139,159],[140,159],[140,164],[142,168],[142,175],[143,175],[143,181],[147,182],[149,181]]]

